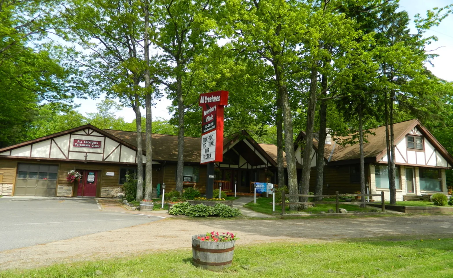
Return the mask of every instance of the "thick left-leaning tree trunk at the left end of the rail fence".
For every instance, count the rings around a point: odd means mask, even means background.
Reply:
[[[291,107],[289,106],[288,90],[286,88],[286,80],[284,77],[283,65],[275,62],[275,79],[280,96],[280,104],[283,111],[283,124],[284,124],[284,142],[286,146],[286,167],[288,171],[288,189],[289,194],[297,194],[297,172],[296,172],[296,156],[294,154],[294,141],[293,141],[293,119],[291,116]],[[289,197],[289,201],[297,202],[297,197]],[[295,210],[296,205],[289,206],[290,210]]]

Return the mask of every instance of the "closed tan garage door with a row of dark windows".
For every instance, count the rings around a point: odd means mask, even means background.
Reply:
[[[16,196],[55,196],[58,165],[19,163]]]

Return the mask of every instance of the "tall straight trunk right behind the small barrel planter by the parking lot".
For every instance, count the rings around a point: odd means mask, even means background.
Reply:
[[[145,109],[146,109],[146,175],[145,175],[145,199],[151,200],[151,194],[153,192],[153,150],[152,146],[152,105],[151,105],[151,91],[150,91],[150,73],[149,73],[149,2],[146,0],[143,6],[143,11],[145,13],[145,36],[144,36],[144,45],[145,45]]]

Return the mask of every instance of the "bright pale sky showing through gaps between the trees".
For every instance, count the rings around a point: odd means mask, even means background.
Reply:
[[[443,7],[449,4],[453,4],[453,0],[400,0],[400,9],[406,10],[411,19],[414,19],[415,14],[426,15],[427,10],[431,10],[434,7]],[[414,23],[411,21],[410,24],[411,33],[414,33]],[[431,43],[427,50],[434,50],[433,53],[439,54],[439,57],[433,59],[434,67],[428,65],[428,68],[439,78],[447,81],[453,81],[453,15],[448,16],[442,21],[439,26],[434,26],[428,30],[424,35],[437,36],[438,41]],[[76,99],[74,102],[79,104],[80,107],[76,110],[86,115],[87,113],[96,112],[96,104],[101,102],[106,96],[101,95],[99,98],[92,99]],[[118,103],[119,101],[116,100]],[[171,105],[171,101],[163,96],[160,100],[156,101],[156,105],[153,107],[153,119],[164,118],[170,119],[168,107]],[[135,119],[135,114],[132,108],[124,107],[115,113],[117,117],[123,117],[126,122],[131,122]],[[142,110],[142,115],[145,115],[145,110]]]

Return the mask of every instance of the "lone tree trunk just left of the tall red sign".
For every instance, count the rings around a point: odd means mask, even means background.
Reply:
[[[183,171],[184,171],[184,98],[182,89],[182,73],[179,71],[176,77],[176,92],[178,98],[178,166],[176,169],[176,191],[183,194]]]

